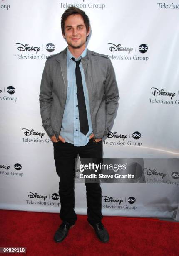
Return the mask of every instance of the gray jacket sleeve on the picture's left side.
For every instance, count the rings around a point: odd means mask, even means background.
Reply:
[[[40,114],[42,118],[42,126],[47,132],[48,136],[51,138],[54,135],[54,131],[51,127],[50,122],[50,111],[53,102],[52,97],[52,86],[53,82],[50,77],[50,69],[49,69],[49,59],[45,62],[45,67],[42,74],[42,80],[40,85]]]

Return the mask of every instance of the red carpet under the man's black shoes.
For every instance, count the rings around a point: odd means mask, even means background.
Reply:
[[[104,244],[86,218],[78,215],[75,227],[58,244],[53,241],[60,225],[58,214],[0,210],[0,247],[27,247],[28,256],[179,255],[179,223],[104,216],[110,235]]]

